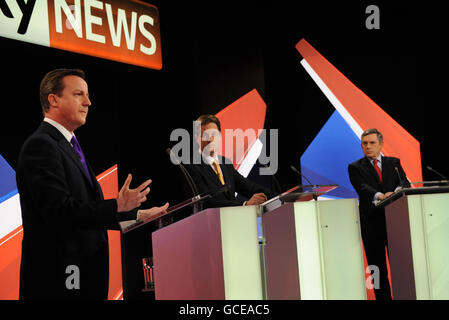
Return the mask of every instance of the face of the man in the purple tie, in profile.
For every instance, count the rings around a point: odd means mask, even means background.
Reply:
[[[61,96],[53,95],[53,104],[57,109],[57,120],[67,130],[73,132],[86,123],[87,112],[91,105],[87,83],[74,75],[63,79],[64,90]]]

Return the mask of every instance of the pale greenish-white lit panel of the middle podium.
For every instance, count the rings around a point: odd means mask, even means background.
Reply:
[[[301,299],[366,299],[357,200],[294,208]]]

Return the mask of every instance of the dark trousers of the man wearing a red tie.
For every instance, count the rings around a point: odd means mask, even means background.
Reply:
[[[368,265],[376,266],[379,270],[379,286],[377,288],[376,281],[374,281],[374,294],[376,295],[376,300],[391,300],[391,288],[390,282],[388,281],[387,259],[385,255],[385,248],[387,248],[388,252],[387,237],[363,237],[363,246],[365,247]],[[371,268],[371,270],[377,269]],[[375,272],[372,272],[371,274],[373,277],[376,277]]]

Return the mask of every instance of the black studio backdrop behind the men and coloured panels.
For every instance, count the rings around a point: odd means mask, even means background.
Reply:
[[[265,128],[279,129],[276,176],[282,189],[290,188],[298,178],[288,167],[300,167],[334,111],[300,65],[295,44],[305,38],[420,141],[425,180],[438,179],[427,165],[449,176],[440,155],[448,136],[447,89],[434,78],[447,77],[444,8],[396,1],[146,2],[159,8],[159,71],[0,38],[0,153],[14,169],[22,143],[42,120],[40,80],[51,69],[78,67],[92,100],[87,124],[76,132],[83,150],[97,174],[118,163],[119,186],[128,173],[132,187],[152,178],[144,207],[186,197],[165,153],[174,144],[171,131],[190,129],[200,114],[217,113],[254,88],[267,104]],[[369,4],[380,8],[380,30],[365,27]],[[250,176],[259,179],[254,169]]]

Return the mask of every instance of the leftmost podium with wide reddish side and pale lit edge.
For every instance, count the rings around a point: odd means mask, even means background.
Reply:
[[[152,243],[156,299],[263,298],[256,206],[203,210]]]

